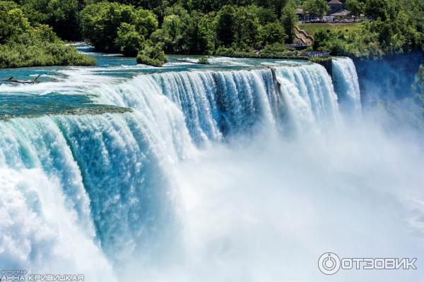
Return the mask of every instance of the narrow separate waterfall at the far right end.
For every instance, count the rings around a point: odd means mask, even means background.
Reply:
[[[361,113],[360,89],[355,64],[350,58],[334,58],[333,81],[343,114],[359,116]]]

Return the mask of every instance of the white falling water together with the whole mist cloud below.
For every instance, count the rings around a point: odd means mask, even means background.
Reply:
[[[362,116],[351,59],[334,60],[333,78],[305,63],[8,88],[134,111],[0,121],[1,267],[86,281],[324,281],[328,251],[423,259],[422,147]]]

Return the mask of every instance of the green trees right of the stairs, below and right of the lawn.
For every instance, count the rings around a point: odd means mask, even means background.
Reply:
[[[314,50],[370,59],[384,54],[424,51],[423,0],[346,1],[356,7],[355,14],[365,13],[374,20],[363,23],[359,30],[348,35],[343,30],[320,30],[314,35]]]

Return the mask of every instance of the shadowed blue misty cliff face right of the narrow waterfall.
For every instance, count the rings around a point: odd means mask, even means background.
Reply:
[[[413,99],[411,89],[423,63],[424,54],[418,52],[355,60],[363,113],[380,121],[388,133],[423,140],[424,105]]]

